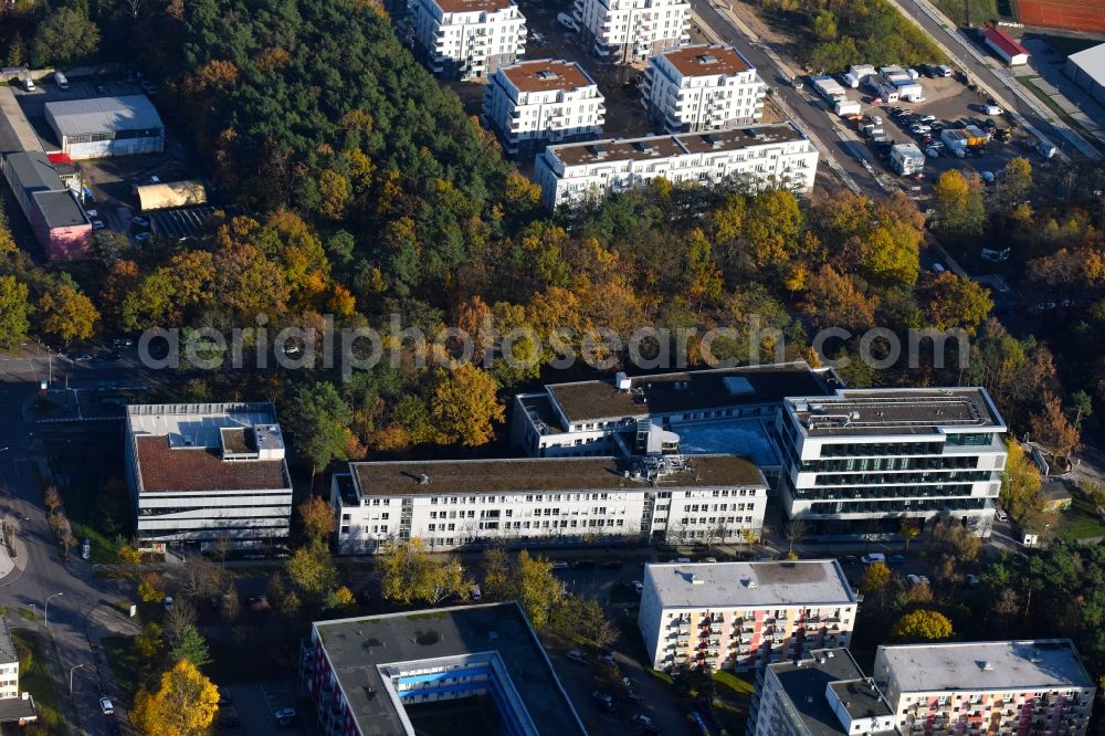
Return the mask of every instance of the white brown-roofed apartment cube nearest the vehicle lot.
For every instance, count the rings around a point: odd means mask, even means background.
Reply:
[[[767,85],[733,46],[698,44],[649,60],[641,104],[667,133],[758,123]]]

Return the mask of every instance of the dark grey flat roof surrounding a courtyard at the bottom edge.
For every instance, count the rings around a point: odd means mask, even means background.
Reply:
[[[406,733],[381,666],[495,652],[541,736],[586,729],[517,603],[316,621],[334,674],[365,736]]]

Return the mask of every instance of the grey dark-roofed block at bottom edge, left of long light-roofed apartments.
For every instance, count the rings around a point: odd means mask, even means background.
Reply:
[[[846,649],[767,665],[748,711],[748,736],[897,734],[894,712]]]

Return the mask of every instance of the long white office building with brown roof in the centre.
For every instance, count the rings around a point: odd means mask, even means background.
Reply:
[[[436,550],[745,542],[759,536],[766,503],[764,475],[732,455],[350,463],[330,491],[341,554],[414,537]]]

